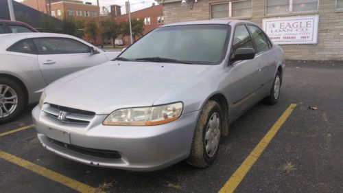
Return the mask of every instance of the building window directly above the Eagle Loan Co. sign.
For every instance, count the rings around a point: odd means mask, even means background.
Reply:
[[[267,14],[318,11],[318,0],[266,0],[265,5]]]

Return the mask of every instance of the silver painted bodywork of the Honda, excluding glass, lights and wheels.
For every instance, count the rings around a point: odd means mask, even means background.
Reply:
[[[212,23],[231,25],[232,30],[241,23],[255,25],[228,20],[172,25]],[[233,122],[252,105],[270,95],[276,71],[278,68],[283,71],[285,67],[283,52],[278,45],[257,54],[252,60],[229,64],[232,34],[229,49],[219,65],[110,61],[55,81],[45,89],[43,110],[36,107],[32,111],[40,142],[47,149],[68,159],[126,170],[157,170],[187,158],[196,122],[206,101],[213,95],[224,96],[228,103],[228,120]],[[182,116],[174,122],[146,127],[102,125],[105,118],[116,109],[172,102],[184,104]],[[49,104],[91,111],[95,117],[82,128],[80,125],[65,124],[45,111]],[[70,141],[64,141],[65,144],[116,150],[122,158],[95,160],[65,148],[57,148],[47,139],[49,128],[69,133]]]

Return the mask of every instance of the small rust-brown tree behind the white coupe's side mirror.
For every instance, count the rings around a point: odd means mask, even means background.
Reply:
[[[101,21],[101,35],[102,35],[102,43],[104,42],[105,38],[112,38],[113,39],[113,47],[115,47],[115,39],[121,33],[120,26],[115,23],[112,19],[106,19],[105,21]]]

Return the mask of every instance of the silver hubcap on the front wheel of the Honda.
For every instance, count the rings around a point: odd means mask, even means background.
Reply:
[[[205,133],[205,150],[208,157],[213,157],[218,148],[220,140],[220,116],[219,113],[213,113],[207,124]]]

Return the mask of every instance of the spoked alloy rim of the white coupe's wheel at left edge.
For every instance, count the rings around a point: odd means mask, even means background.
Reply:
[[[0,84],[0,118],[8,117],[18,106],[16,91],[6,84]]]

